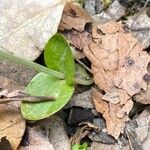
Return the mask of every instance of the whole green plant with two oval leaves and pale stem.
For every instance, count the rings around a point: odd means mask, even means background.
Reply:
[[[23,102],[21,112],[24,118],[39,120],[59,111],[71,98],[74,84],[89,85],[93,80],[75,78],[75,62],[71,49],[62,34],[55,34],[44,48],[47,67],[14,56],[0,49],[0,58],[19,63],[40,72],[27,85],[25,91],[35,96],[53,96],[55,101],[39,103]]]

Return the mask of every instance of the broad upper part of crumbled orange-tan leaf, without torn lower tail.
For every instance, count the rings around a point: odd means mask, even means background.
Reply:
[[[107,92],[117,86],[130,96],[146,89],[143,76],[148,73],[150,56],[138,40],[116,22],[99,25],[96,31],[95,41],[84,47],[84,53],[92,62],[98,87]]]

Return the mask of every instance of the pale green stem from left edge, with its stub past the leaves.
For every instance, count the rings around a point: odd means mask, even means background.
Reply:
[[[30,60],[15,56],[2,47],[0,47],[0,59],[8,60],[8,61],[14,62],[16,64],[24,65],[28,68],[36,70],[37,72],[44,72],[44,73],[50,74],[58,79],[65,79],[65,76],[63,73],[49,69],[47,67],[39,65]],[[75,83],[82,84],[82,85],[90,85],[93,83],[93,80],[92,79],[91,80],[82,80],[82,79],[75,78]]]

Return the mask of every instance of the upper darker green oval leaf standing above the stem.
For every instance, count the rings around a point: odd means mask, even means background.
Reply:
[[[74,83],[75,63],[70,46],[62,34],[55,34],[44,48],[48,68],[64,73],[68,84]]]

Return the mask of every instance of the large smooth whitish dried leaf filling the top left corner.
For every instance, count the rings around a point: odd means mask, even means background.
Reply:
[[[35,60],[57,32],[64,5],[65,0],[1,1],[0,46]]]

